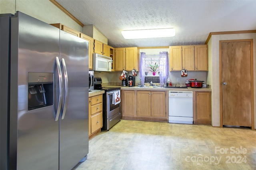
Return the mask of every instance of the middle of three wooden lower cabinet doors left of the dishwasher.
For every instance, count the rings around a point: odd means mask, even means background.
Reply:
[[[151,116],[150,91],[137,91],[137,116]]]

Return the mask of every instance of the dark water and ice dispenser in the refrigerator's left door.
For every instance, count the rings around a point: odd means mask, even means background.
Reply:
[[[28,110],[53,105],[53,73],[28,72]]]

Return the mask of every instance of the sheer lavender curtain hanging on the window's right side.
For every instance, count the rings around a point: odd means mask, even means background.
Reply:
[[[169,74],[168,52],[159,52],[159,80],[160,86],[166,84],[166,78]]]

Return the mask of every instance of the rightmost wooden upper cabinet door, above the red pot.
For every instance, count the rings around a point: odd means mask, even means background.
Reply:
[[[195,70],[208,71],[207,45],[195,45]]]

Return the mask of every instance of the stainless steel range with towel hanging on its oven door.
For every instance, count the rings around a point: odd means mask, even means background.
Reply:
[[[120,87],[102,87],[101,78],[94,78],[94,89],[104,90],[103,94],[103,127],[102,130],[109,130],[121,120],[120,103],[116,104],[113,100],[114,93],[119,94]]]

